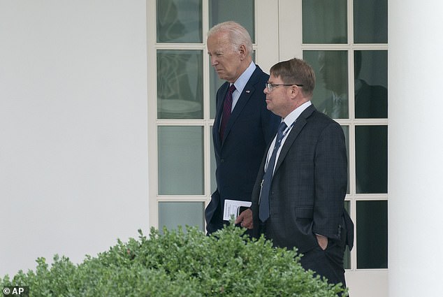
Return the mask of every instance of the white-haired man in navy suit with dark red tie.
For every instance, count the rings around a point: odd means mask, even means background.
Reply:
[[[269,75],[252,61],[252,41],[236,22],[215,25],[208,32],[208,55],[219,78],[217,113],[212,128],[217,190],[205,210],[208,233],[222,229],[225,200],[251,201],[263,153],[279,117],[266,108],[263,88]],[[230,91],[231,90],[231,91]]]

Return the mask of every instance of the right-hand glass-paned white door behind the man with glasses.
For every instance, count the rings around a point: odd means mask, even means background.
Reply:
[[[346,201],[356,231],[347,285],[351,296],[387,296],[387,0],[298,5],[301,52],[317,78],[312,103],[347,132]]]

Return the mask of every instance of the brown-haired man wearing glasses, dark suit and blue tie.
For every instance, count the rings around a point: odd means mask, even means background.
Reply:
[[[314,71],[303,60],[270,68],[266,103],[282,117],[282,129],[259,168],[252,213],[246,210],[238,221],[252,215],[246,227],[254,236],[264,233],[277,247],[296,247],[305,269],[345,286],[344,247],[354,240],[344,210],[347,152],[341,126],[310,101],[314,85]]]

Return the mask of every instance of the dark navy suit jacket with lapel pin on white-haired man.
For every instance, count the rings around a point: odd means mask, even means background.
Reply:
[[[217,91],[217,113],[212,127],[217,190],[205,210],[208,233],[227,223],[222,220],[225,199],[251,201],[261,159],[280,122],[280,117],[266,108],[263,89],[268,78],[257,66],[235,104],[224,139],[220,139],[219,126],[229,83],[225,82]]]

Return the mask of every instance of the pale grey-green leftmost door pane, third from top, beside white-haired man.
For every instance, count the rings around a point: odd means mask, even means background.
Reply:
[[[203,195],[203,127],[159,126],[159,195]]]

